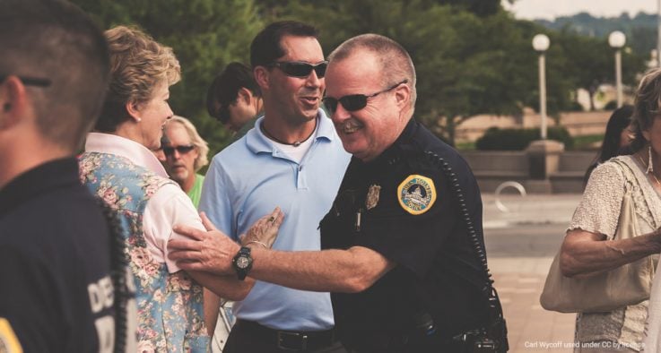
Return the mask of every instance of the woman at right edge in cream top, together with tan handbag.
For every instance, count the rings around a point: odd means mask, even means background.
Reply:
[[[570,310],[578,312],[575,352],[639,352],[644,347],[647,298],[656,254],[661,252],[660,100],[661,70],[654,69],[643,77],[636,93],[633,154],[615,157],[595,169],[562,243],[561,280],[583,284],[593,280],[601,286],[584,293],[586,307]],[[544,292],[549,291],[550,280],[552,273]],[[661,283],[654,287],[659,288],[652,290],[653,302],[661,296]],[[661,298],[657,300],[661,315]],[[590,301],[601,302],[601,308],[595,309]],[[650,319],[656,316],[651,314]],[[656,322],[656,331],[650,332],[654,336],[661,330],[661,318]],[[658,350],[648,346],[646,351]]]

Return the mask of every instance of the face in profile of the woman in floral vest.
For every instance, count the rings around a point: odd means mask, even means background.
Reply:
[[[168,82],[161,81],[154,88],[152,99],[140,104],[136,109],[136,116],[140,118],[138,125],[142,140],[138,142],[150,150],[157,150],[161,146],[163,127],[173,115],[168,99],[170,87]]]

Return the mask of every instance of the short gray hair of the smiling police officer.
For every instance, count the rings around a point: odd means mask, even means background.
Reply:
[[[328,61],[342,61],[352,56],[359,49],[370,50],[377,56],[383,73],[384,87],[402,82],[404,79],[408,81],[411,88],[411,110],[413,113],[417,97],[415,67],[406,49],[393,39],[367,33],[344,41],[328,56]]]

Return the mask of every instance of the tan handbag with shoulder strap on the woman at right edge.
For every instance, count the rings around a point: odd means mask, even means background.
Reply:
[[[638,181],[631,174],[629,167],[621,162],[617,164],[622,167],[628,185],[622,198],[620,219],[613,238],[627,239],[639,236],[631,191],[631,183],[637,185]],[[559,256],[560,252],[553,259],[542,296],[539,298],[540,304],[546,310],[561,313],[609,312],[622,306],[639,304],[649,298],[654,279],[651,256],[582,279],[563,276]]]

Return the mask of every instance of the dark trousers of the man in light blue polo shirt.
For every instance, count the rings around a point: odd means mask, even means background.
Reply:
[[[306,332],[276,331],[258,323],[238,320],[230,331],[222,353],[347,353],[342,343],[335,340],[332,334],[326,340],[326,334],[309,332],[309,339],[302,339],[296,333],[304,335]],[[301,340],[306,343],[299,344]]]

